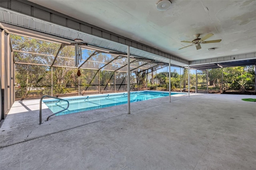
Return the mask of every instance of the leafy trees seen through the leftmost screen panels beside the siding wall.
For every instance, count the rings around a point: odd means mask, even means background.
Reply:
[[[16,98],[25,99],[28,95],[49,94],[50,92],[50,68],[40,64],[50,65],[60,44],[10,34],[14,61],[24,64],[16,64],[17,85]],[[41,55],[43,54],[43,55]],[[34,65],[29,65],[30,63]],[[33,93],[31,93],[33,91]]]

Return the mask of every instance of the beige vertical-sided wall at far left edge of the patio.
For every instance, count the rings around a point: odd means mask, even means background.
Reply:
[[[10,45],[9,32],[0,25],[0,111],[1,119],[5,119],[6,114],[14,103],[14,62],[12,47]]]

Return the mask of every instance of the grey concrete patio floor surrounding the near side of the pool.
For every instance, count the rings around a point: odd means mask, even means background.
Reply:
[[[0,170],[255,170],[251,95],[193,94],[53,116],[16,101],[0,127]],[[43,107],[43,120],[52,112]]]

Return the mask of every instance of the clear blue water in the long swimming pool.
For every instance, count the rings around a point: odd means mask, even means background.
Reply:
[[[171,95],[175,94],[184,95],[184,93],[171,93]],[[136,91],[130,93],[130,102],[144,101],[165,96],[169,96],[169,92]],[[56,116],[126,104],[127,93],[91,95],[65,99],[69,101],[68,109],[58,113]],[[43,100],[43,102],[53,113],[65,109],[68,105],[66,101],[57,99],[46,99]]]

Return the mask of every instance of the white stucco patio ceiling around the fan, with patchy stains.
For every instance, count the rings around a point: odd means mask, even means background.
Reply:
[[[171,0],[166,11],[156,10],[157,0],[30,1],[188,61],[256,51],[255,0]],[[222,41],[178,50],[208,33]]]

